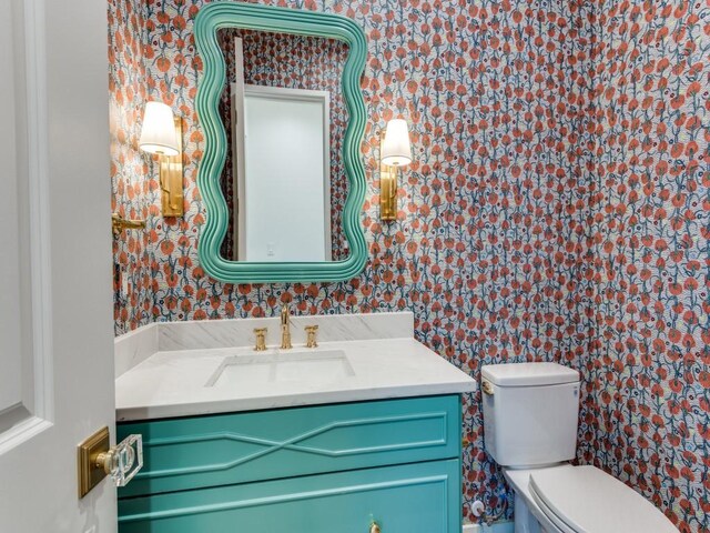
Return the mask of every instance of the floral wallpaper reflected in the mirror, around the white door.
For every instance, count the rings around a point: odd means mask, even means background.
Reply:
[[[347,178],[343,165],[343,139],[347,125],[347,108],[341,90],[343,66],[347,59],[347,44],[335,39],[288,36],[263,31],[224,28],[217,33],[226,63],[226,79],[236,80],[234,39],[242,39],[244,83],[251,86],[285,87],[327,91],[329,94],[329,169],[331,169],[331,241],[332,258],[347,258],[347,240],[343,229],[343,209],[347,198]],[[220,102],[227,147],[232,147],[232,99],[226,89]],[[234,180],[233,150],[227,150],[222,171],[222,191],[230,209],[230,224],[222,244],[222,255],[234,257]]]

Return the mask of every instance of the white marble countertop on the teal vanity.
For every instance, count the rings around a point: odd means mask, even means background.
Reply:
[[[395,313],[388,313],[395,314]],[[397,313],[405,314],[405,313]],[[410,316],[405,320],[412,320]],[[327,336],[327,335],[326,335]],[[357,335],[354,335],[357,336]],[[345,353],[348,371],[306,373],[298,379],[270,382],[229,376],[206,386],[229,356],[308,356]],[[327,355],[327,353],[326,353]],[[240,372],[233,366],[232,372]],[[266,381],[265,381],[266,380]],[[162,350],[124,370],[115,382],[116,419],[136,421],[210,413],[342,403],[471,392],[476,382],[413,338],[355,339],[321,342],[314,350],[251,346]]]

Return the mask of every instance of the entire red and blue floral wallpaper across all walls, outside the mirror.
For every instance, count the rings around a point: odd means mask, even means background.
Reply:
[[[136,2],[135,23],[124,2],[109,3],[115,203],[148,217],[133,245],[114,249],[136,283],[134,299],[118,300],[116,332],[271,315],[286,301],[304,314],[412,310],[416,338],[475,378],[496,362],[579,369],[579,462],[622,479],[681,531],[708,531],[709,8],[264,1],[365,29],[369,258],[344,283],[230,285],[196,257],[204,140],[192,24],[204,3]],[[160,217],[155,174],[135,151],[145,99],[184,120],[183,219]],[[397,220],[383,223],[372,169],[397,115],[412,123],[415,162]],[[480,499],[510,517],[479,402],[465,399],[463,514],[475,521]]]

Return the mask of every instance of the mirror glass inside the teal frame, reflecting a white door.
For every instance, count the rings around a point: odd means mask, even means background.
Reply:
[[[347,258],[347,178],[341,89],[347,44],[225,28],[220,113],[227,137],[221,177],[230,210],[222,255],[234,261]]]

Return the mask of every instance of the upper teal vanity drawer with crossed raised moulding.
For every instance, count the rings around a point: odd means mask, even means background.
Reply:
[[[460,456],[458,395],[119,424],[144,466],[120,497]]]

